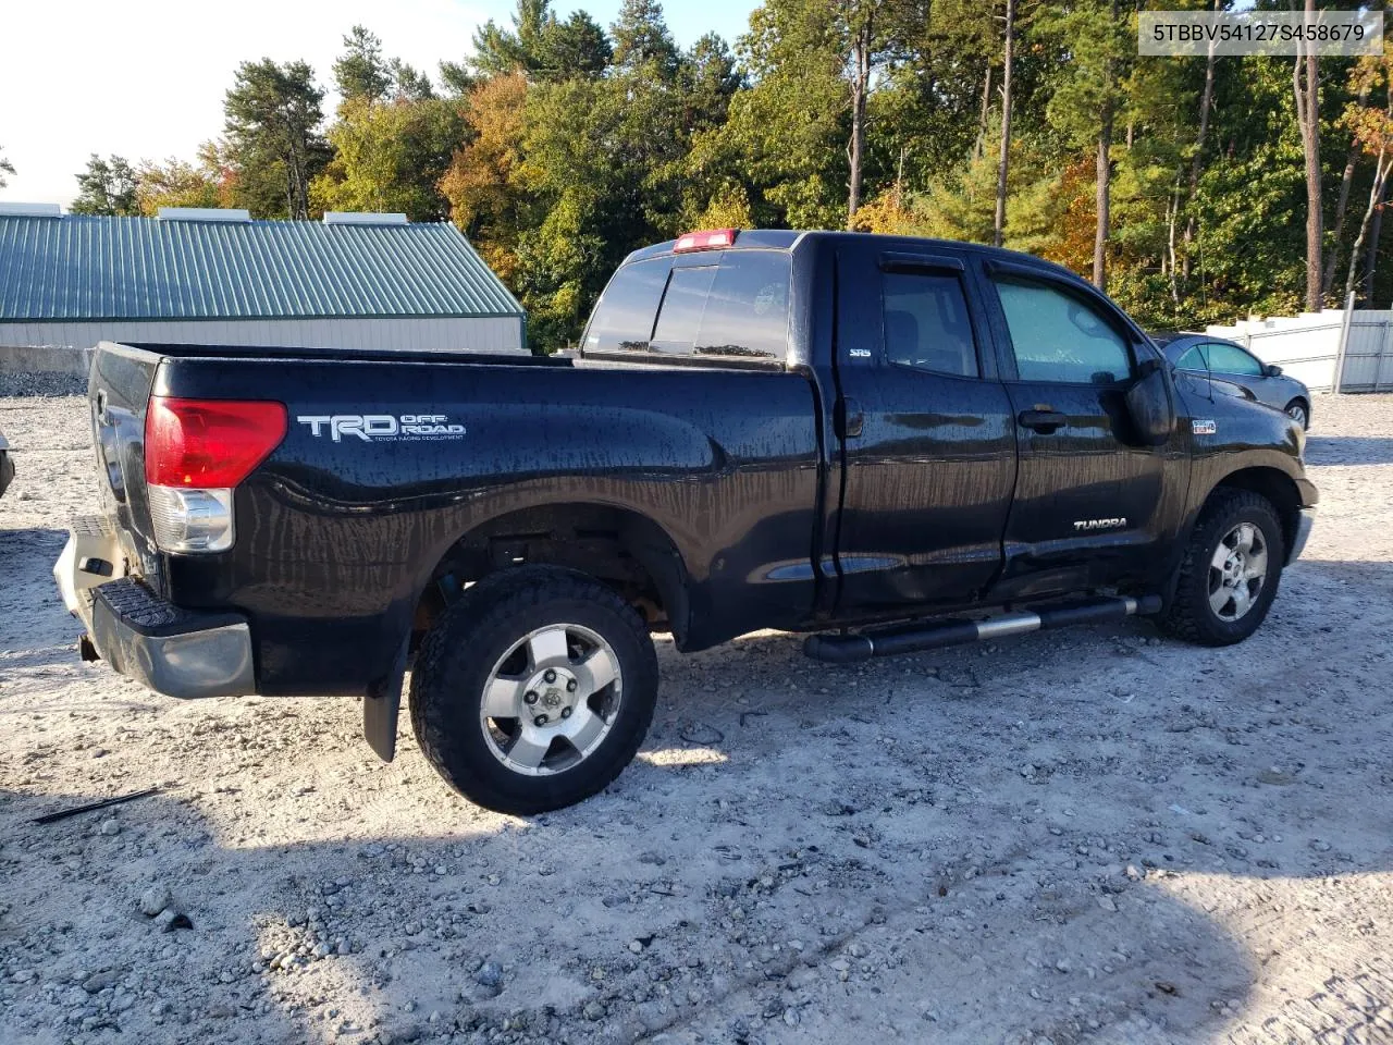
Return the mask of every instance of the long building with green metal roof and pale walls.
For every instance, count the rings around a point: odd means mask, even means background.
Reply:
[[[524,351],[525,314],[451,224],[0,202],[0,346],[98,341]]]

